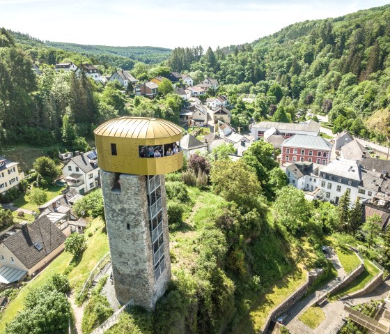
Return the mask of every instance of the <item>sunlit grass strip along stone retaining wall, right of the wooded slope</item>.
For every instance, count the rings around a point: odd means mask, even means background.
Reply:
[[[261,298],[253,303],[249,317],[244,317],[232,333],[259,333],[268,314],[306,281],[306,274],[307,271],[304,268],[297,268],[290,275],[286,275],[273,284]]]

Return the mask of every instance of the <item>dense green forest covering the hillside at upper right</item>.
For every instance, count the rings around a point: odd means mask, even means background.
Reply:
[[[236,105],[237,126],[296,119],[299,110],[329,115],[334,132],[348,129],[384,140],[390,103],[390,6],[327,20],[292,24],[253,43],[212,51],[198,60],[193,49],[173,50],[173,70],[217,77],[235,102],[242,93],[254,105]],[[281,115],[281,116],[280,116]]]

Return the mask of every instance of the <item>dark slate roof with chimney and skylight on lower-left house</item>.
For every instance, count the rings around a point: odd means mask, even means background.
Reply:
[[[65,242],[66,236],[49,218],[41,217],[3,240],[26,268],[32,268]],[[34,244],[40,243],[42,250]]]

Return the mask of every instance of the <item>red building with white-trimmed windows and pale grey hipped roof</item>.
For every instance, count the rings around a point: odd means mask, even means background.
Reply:
[[[294,135],[281,144],[281,163],[308,161],[321,165],[330,162],[331,143],[320,136]]]

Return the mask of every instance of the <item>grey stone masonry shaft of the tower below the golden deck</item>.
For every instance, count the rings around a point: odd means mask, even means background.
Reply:
[[[155,282],[146,177],[120,174],[120,190],[112,190],[116,174],[102,169],[100,174],[116,297],[120,303],[134,298],[134,305],[153,310],[171,278],[171,268],[166,261],[166,270]],[[164,211],[166,218],[166,207]],[[169,259],[169,248],[165,252]]]

